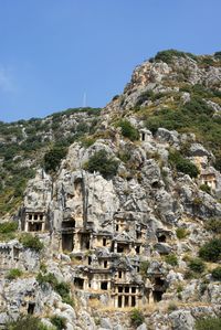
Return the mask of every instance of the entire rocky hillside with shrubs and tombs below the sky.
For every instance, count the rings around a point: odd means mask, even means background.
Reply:
[[[166,51],[101,111],[1,124],[2,329],[219,321],[220,115],[221,54]]]

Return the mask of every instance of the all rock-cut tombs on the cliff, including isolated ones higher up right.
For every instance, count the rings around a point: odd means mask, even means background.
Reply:
[[[148,130],[140,130],[143,143],[151,139]],[[217,177],[208,168],[207,157],[196,153],[193,161],[200,169],[200,183],[215,190]],[[106,295],[112,306],[118,308],[161,300],[167,289],[165,275],[156,269],[147,276],[143,266],[149,255],[150,243],[159,254],[169,253],[166,244],[171,238],[171,232],[159,228],[152,233],[145,219],[138,214],[130,216],[124,211],[113,214],[108,224],[97,221],[95,227],[87,207],[88,191],[84,174],[75,173],[67,181],[62,183],[57,193],[56,205],[62,210],[59,221],[54,221],[49,205],[39,210],[27,205],[21,214],[21,230],[51,232],[56,237],[57,249],[73,257],[76,290]]]

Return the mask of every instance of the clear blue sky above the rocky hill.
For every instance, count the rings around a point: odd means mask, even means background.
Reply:
[[[0,120],[103,107],[160,50],[221,51],[220,0],[0,0]]]

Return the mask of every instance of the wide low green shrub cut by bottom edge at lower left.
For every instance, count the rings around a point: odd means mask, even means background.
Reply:
[[[44,326],[41,320],[34,316],[20,316],[15,321],[8,322],[7,330],[55,330],[52,327]]]

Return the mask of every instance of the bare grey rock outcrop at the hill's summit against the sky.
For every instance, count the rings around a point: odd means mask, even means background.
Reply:
[[[177,93],[179,92],[179,82],[185,81],[190,85],[200,84],[206,87],[215,87],[220,85],[220,66],[202,67],[197,61],[186,57],[173,57],[171,63],[144,62],[137,66],[131,75],[129,84],[124,89],[122,97],[107,105],[107,110],[130,109],[136,105],[159,106],[159,99],[152,100],[151,93]],[[168,82],[172,82],[171,86]],[[182,102],[190,100],[188,93],[182,94]],[[211,105],[211,104],[210,104]],[[213,105],[219,113],[219,105]]]

